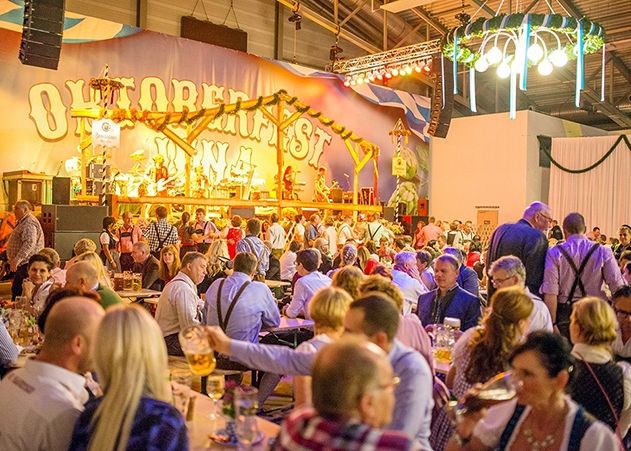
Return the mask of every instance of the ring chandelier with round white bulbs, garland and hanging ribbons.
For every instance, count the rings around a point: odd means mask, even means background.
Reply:
[[[604,98],[605,30],[583,17],[560,14],[499,14],[480,17],[452,29],[443,41],[443,56],[453,63],[454,94],[458,94],[458,64],[469,70],[470,107],[476,111],[475,74],[494,70],[510,78],[510,117],[516,116],[517,86],[526,91],[529,70],[542,76],[576,60],[575,104],[585,88],[585,55],[602,49],[601,97]],[[444,76],[444,75],[443,75]],[[519,78],[519,81],[518,81]]]

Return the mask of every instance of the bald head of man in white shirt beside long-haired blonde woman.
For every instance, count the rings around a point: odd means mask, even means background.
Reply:
[[[46,319],[42,356],[64,363],[80,373],[91,369],[90,348],[96,329],[105,315],[103,307],[90,298],[73,296],[62,299]]]

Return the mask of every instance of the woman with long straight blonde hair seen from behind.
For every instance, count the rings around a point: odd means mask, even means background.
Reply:
[[[93,350],[104,394],[86,404],[69,449],[188,450],[184,418],[169,403],[166,347],[151,315],[138,306],[112,307]]]

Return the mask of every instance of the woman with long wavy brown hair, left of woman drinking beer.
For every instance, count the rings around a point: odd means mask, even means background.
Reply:
[[[453,349],[453,365],[445,384],[460,398],[473,384],[484,382],[508,369],[513,347],[528,329],[532,300],[521,288],[495,292],[482,323],[465,331]],[[430,443],[442,450],[453,432],[451,420],[440,411],[432,424]]]

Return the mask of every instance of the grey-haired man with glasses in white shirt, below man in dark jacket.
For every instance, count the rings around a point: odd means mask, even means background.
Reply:
[[[548,307],[539,296],[532,294],[526,286],[526,268],[520,259],[514,255],[505,255],[498,258],[493,262],[489,275],[493,279],[493,286],[496,290],[517,286],[522,288],[528,297],[532,299],[534,308],[528,320],[527,334],[536,330],[553,331]]]

